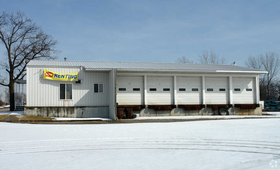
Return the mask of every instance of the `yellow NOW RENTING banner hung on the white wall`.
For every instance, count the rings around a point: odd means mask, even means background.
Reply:
[[[49,70],[44,70],[44,79],[62,80],[62,81],[78,81],[77,73],[60,74]]]

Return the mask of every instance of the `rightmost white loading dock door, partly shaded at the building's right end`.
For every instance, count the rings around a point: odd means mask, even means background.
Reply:
[[[255,104],[255,77],[232,77],[233,104]]]

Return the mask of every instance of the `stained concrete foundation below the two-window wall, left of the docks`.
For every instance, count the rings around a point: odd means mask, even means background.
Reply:
[[[96,107],[25,107],[25,115],[72,118],[109,118],[109,106]]]

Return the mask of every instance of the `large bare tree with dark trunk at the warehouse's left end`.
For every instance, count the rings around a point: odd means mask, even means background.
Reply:
[[[0,16],[0,42],[5,47],[0,66],[7,71],[7,75],[1,77],[0,85],[9,87],[10,111],[13,111],[14,81],[22,80],[26,75],[23,62],[56,59],[60,51],[55,48],[58,41],[21,11],[3,12]]]

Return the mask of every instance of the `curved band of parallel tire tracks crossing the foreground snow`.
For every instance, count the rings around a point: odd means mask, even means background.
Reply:
[[[104,140],[107,141],[104,141]],[[119,141],[119,140],[122,141]],[[126,139],[126,140],[125,140]],[[145,140],[143,140],[145,139]],[[163,140],[160,140],[163,139]],[[92,140],[92,141],[88,141]],[[102,141],[103,140],[103,141]],[[41,143],[46,142],[49,143]],[[53,141],[53,142],[52,142]],[[58,142],[64,141],[64,142]],[[68,141],[68,142],[67,142]],[[73,142],[74,141],[74,142]],[[219,142],[217,142],[219,141]],[[228,142],[222,142],[228,141]],[[235,141],[235,142],[229,142]],[[14,147],[19,145],[54,145],[55,146],[42,146],[42,147],[25,147],[25,148],[8,148],[8,149],[1,149],[0,155],[7,155],[7,154],[25,154],[25,153],[40,153],[40,152],[56,152],[56,151],[84,151],[84,150],[111,150],[111,149],[185,149],[185,150],[209,150],[209,151],[235,151],[235,152],[246,152],[246,153],[256,153],[256,154],[271,154],[277,155],[280,154],[272,153],[273,151],[266,151],[266,149],[272,150],[280,150],[279,148],[273,147],[259,147],[259,146],[275,146],[279,147],[279,145],[269,145],[269,143],[280,143],[280,142],[267,142],[267,141],[248,141],[246,142],[253,142],[253,143],[237,143],[238,141],[245,141],[245,140],[224,140],[224,139],[193,139],[193,138],[89,138],[89,139],[62,139],[62,140],[43,140],[43,141],[23,141],[23,142],[5,142],[2,144],[15,144],[15,145],[1,145],[1,147]],[[33,143],[32,143],[33,142]],[[66,145],[66,146],[57,146],[57,144],[70,144],[70,143],[109,143],[109,144],[95,144],[95,145]],[[110,144],[116,143],[119,144]],[[138,143],[131,143],[131,142],[138,142]],[[143,142],[143,143],[139,143]],[[24,143],[24,144],[16,144],[16,143]],[[266,144],[262,144],[266,143]],[[228,145],[226,145],[228,144]],[[26,151],[26,152],[8,152],[3,153],[3,151],[12,151],[12,150],[23,150],[23,149],[48,149],[48,148],[65,148],[65,147],[100,147],[100,146],[119,146],[119,145],[135,145],[137,147],[119,147],[119,148],[79,148],[79,149],[60,149],[60,150],[35,150],[35,151]],[[141,147],[140,146],[153,146],[153,147]],[[163,145],[166,146],[177,146],[177,147],[162,147]],[[250,146],[248,146],[250,145]],[[258,145],[258,146],[253,146]],[[154,147],[154,146],[161,146],[161,147]],[[184,146],[184,147],[181,147]],[[195,146],[202,146],[202,147],[212,147],[212,148],[191,148]],[[179,147],[179,148],[178,148]],[[189,148],[187,148],[189,147]],[[222,147],[222,148],[214,148],[214,147]],[[236,147],[236,149],[224,149],[225,147]],[[241,150],[237,150],[238,148],[242,148]],[[257,148],[257,149],[264,149],[264,151],[250,151],[244,150],[244,148]],[[2,153],[1,153],[2,152]]]

